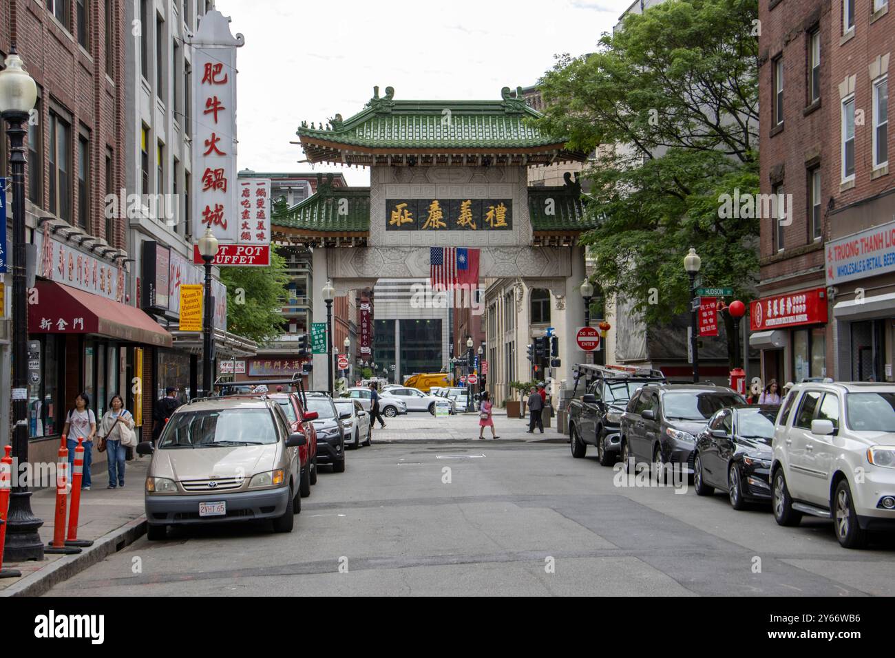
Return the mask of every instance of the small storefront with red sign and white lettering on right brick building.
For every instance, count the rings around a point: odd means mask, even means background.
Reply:
[[[763,382],[829,377],[829,314],[825,287],[762,297],[749,306],[749,345],[761,350]]]

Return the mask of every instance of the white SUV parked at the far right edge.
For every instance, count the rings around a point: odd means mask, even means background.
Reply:
[[[774,428],[771,500],[780,526],[832,518],[846,548],[895,530],[895,385],[797,384]]]

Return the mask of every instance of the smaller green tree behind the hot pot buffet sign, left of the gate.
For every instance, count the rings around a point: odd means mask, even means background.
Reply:
[[[286,303],[288,281],[286,259],[272,245],[267,268],[221,268],[221,282],[226,285],[228,330],[259,345],[282,334],[280,312]]]

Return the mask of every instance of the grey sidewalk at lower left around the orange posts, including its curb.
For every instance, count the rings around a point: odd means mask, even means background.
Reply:
[[[127,462],[124,489],[106,488],[105,463],[91,469],[90,491],[81,491],[78,539],[93,540],[93,545],[75,555],[46,554],[42,562],[4,562],[4,568],[18,569],[21,577],[0,579],[0,596],[39,596],[144,534],[143,485],[148,467],[149,457],[134,457]],[[31,494],[31,511],[44,522],[38,533],[45,545],[53,541],[55,495],[55,487]]]

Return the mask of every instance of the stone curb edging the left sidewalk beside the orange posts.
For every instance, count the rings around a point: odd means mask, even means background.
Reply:
[[[0,592],[0,597],[46,594],[53,585],[58,585],[99,561],[105,560],[109,555],[136,542],[144,534],[146,534],[146,517],[135,518],[124,526],[99,537],[92,546],[85,548],[82,552],[76,555],[66,555],[55,560],[47,568],[23,577],[15,585],[10,585]]]

